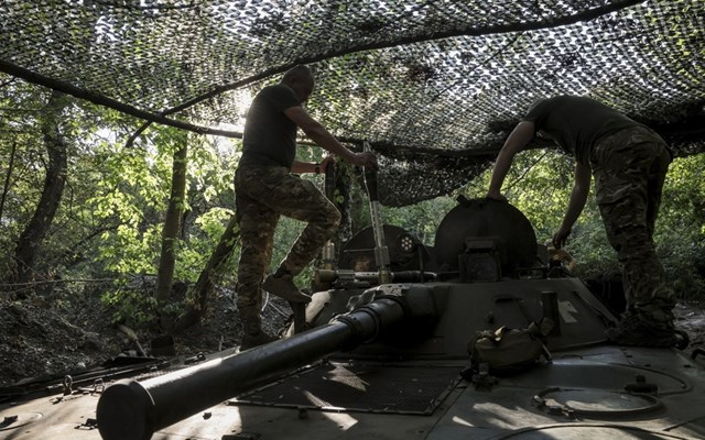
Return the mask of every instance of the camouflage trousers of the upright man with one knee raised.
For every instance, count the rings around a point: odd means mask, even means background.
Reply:
[[[235,175],[235,195],[241,241],[237,304],[241,311],[259,310],[260,285],[271,263],[280,216],[308,223],[280,264],[297,275],[333,235],[340,213],[313,183],[284,167],[239,167]]]

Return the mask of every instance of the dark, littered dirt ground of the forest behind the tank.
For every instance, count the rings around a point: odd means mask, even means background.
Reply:
[[[688,332],[686,352],[705,346],[705,308],[680,302],[676,326]],[[290,314],[279,298],[263,310],[264,327],[275,333]],[[129,333],[129,331],[128,331]],[[41,299],[11,301],[0,293],[0,387],[30,378],[63,377],[66,372],[104,364],[120,355],[150,353],[150,341],[159,333],[137,331],[137,343],[126,331],[110,323],[110,316],[97,298],[47,302]],[[220,292],[213,299],[206,318],[175,338],[177,355],[192,356],[239,345],[241,323],[231,293]]]

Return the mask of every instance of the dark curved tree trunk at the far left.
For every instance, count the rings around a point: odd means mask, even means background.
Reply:
[[[10,272],[8,284],[30,283],[34,279],[36,253],[61,204],[66,184],[67,152],[66,141],[61,134],[59,122],[62,111],[68,103],[67,96],[54,91],[44,108],[42,134],[48,154],[48,167],[34,216],[18,239],[13,260],[14,270]],[[26,295],[19,296],[25,297]]]

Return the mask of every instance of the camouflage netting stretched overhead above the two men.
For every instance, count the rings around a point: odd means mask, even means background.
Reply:
[[[540,97],[594,97],[705,151],[703,0],[3,0],[0,72],[148,121],[237,136],[299,63],[308,109],[381,156],[382,202],[491,164]],[[184,120],[189,122],[184,122]]]

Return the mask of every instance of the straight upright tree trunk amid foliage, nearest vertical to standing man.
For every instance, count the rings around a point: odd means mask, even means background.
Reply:
[[[181,218],[184,211],[184,197],[186,194],[186,155],[188,153],[187,136],[185,133],[180,138],[181,145],[174,152],[172,164],[172,189],[166,208],[166,218],[162,230],[162,253],[159,262],[156,275],[156,301],[163,308],[171,298],[172,284],[174,280],[174,266],[176,264],[176,244],[181,230]],[[162,315],[162,326],[169,326],[167,317]]]

